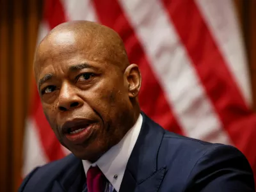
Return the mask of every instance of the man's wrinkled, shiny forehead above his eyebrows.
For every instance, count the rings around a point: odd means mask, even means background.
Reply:
[[[70,31],[53,34],[39,45],[36,52],[36,79],[47,72],[65,71],[81,63],[104,69],[108,57],[108,51],[93,42],[92,38],[79,38]]]

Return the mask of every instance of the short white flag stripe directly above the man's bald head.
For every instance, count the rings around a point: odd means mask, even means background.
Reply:
[[[90,0],[70,1],[62,0],[68,20],[90,20],[97,21],[97,15]]]

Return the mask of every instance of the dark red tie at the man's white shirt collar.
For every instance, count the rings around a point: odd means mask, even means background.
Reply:
[[[98,166],[91,166],[86,175],[88,192],[103,192],[106,187],[106,177]]]

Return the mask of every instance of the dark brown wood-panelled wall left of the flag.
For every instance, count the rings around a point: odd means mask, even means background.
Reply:
[[[42,4],[0,0],[0,191],[17,191]]]

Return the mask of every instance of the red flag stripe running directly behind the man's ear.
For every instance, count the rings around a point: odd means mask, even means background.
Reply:
[[[94,1],[94,4],[100,22],[118,32],[124,40],[129,60],[140,66],[142,84],[139,100],[141,109],[165,129],[182,134],[170,109],[170,104],[166,101],[164,92],[150,68],[142,45],[118,2],[102,0]],[[110,4],[111,6],[109,6]]]

